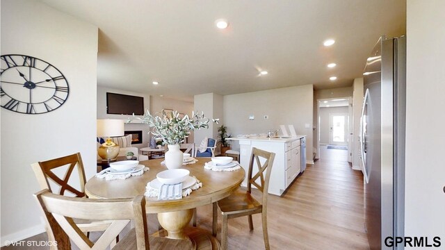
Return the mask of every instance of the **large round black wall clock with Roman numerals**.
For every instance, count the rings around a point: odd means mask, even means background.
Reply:
[[[68,81],[53,65],[33,56],[1,56],[1,107],[24,114],[59,108],[70,93]]]

